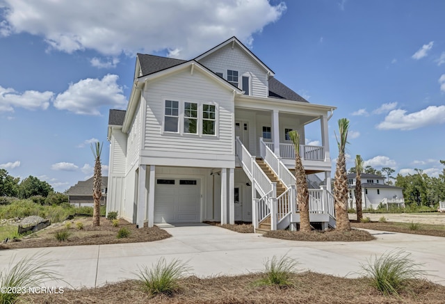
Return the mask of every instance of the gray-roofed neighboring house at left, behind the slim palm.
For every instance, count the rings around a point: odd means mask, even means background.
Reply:
[[[92,199],[92,179],[86,181],[79,181],[74,186],[70,187],[67,191],[68,202],[76,207],[94,206],[94,200]],[[108,177],[102,177],[102,198],[100,199],[100,205],[106,205],[106,193],[107,193]]]

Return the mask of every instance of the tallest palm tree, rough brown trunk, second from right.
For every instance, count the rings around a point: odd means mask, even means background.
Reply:
[[[334,199],[335,213],[337,216],[337,229],[350,230],[348,218],[348,179],[346,178],[346,158],[345,147],[348,143],[349,120],[346,118],[339,119],[339,137],[337,134],[337,145],[339,146],[339,158],[337,159],[337,168],[335,170],[334,180]]]

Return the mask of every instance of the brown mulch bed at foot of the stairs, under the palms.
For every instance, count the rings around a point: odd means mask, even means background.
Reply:
[[[291,241],[372,241],[375,239],[369,232],[364,230],[313,230],[311,232],[275,230],[263,234],[264,237],[275,239],[289,239]]]

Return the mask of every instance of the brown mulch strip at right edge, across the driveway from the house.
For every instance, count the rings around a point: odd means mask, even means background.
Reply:
[[[445,227],[443,227],[442,229],[437,229],[437,228],[431,227],[426,224],[420,224],[419,230],[410,230],[408,223],[394,223],[394,222],[359,223],[357,221],[350,221],[350,225],[351,225],[351,227],[362,228],[362,229],[430,235],[433,237],[445,237]],[[437,225],[435,225],[435,226],[437,226]]]

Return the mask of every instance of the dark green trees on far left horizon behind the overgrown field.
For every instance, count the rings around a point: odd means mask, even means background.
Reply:
[[[47,205],[60,205],[67,202],[67,195],[54,192],[53,187],[38,177],[29,175],[20,181],[19,177],[13,177],[5,169],[0,169],[0,198],[33,199],[34,202]]]

